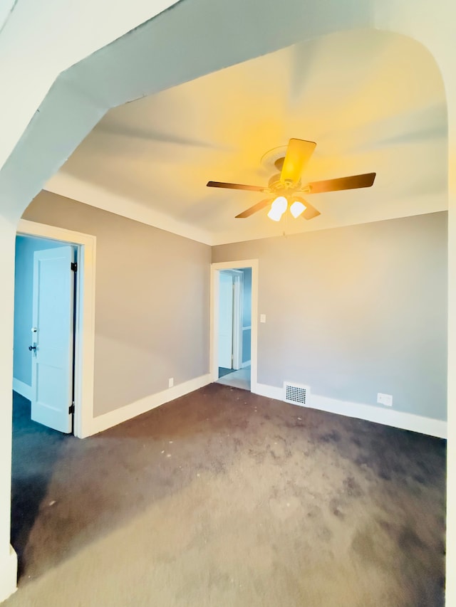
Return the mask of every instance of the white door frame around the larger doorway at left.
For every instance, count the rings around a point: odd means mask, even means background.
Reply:
[[[73,433],[78,438],[86,438],[93,434],[96,237],[26,219],[19,221],[17,234],[61,241],[78,248]]]

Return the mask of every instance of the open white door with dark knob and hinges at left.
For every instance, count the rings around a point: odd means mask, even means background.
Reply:
[[[72,246],[39,250],[33,260],[31,418],[70,433],[73,401]]]

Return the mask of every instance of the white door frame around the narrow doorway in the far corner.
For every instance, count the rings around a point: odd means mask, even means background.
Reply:
[[[250,357],[251,391],[257,389],[257,349],[258,349],[258,260],[244,259],[211,263],[210,286],[210,328],[209,328],[209,374],[211,381],[219,379],[219,272],[220,270],[239,270],[252,268],[252,342]]]

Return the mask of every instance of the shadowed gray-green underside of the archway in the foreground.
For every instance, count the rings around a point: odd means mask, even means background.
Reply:
[[[426,44],[428,21],[421,41],[415,31],[420,28],[404,19],[403,7],[400,27],[397,16],[390,19],[394,11],[383,6],[380,12],[374,1],[348,0],[343,7],[338,0],[260,4],[181,1],[58,75],[0,170],[2,212],[19,221],[31,199],[111,107],[311,38],[359,28],[398,33],[427,48],[447,87],[438,57]],[[389,4],[391,9],[396,2]]]

